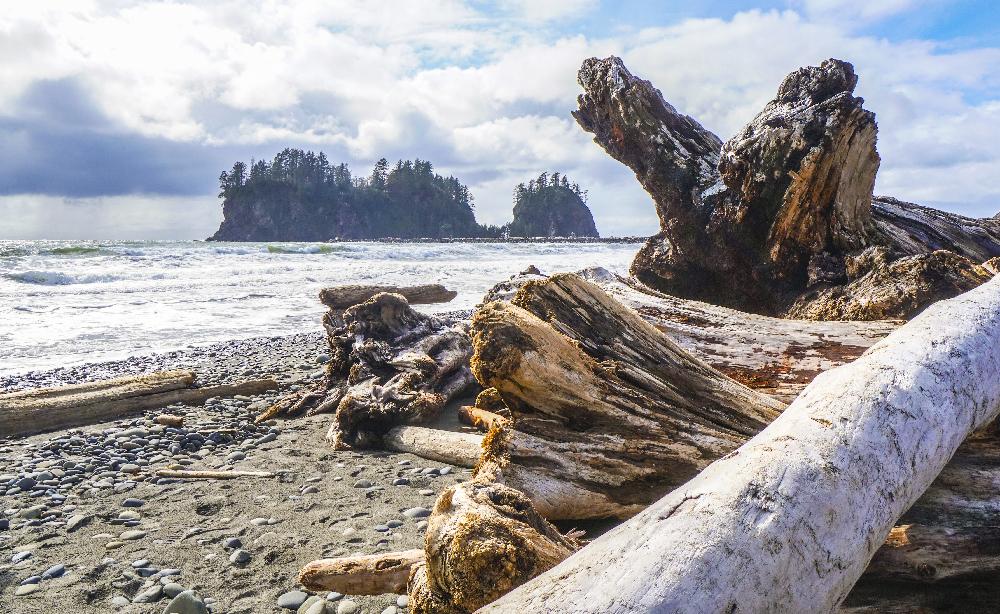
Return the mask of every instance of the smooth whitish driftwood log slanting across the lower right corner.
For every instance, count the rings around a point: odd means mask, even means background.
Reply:
[[[823,612],[1000,412],[1000,279],[810,384],[695,479],[484,612]]]

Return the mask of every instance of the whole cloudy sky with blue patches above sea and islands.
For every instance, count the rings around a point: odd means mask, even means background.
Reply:
[[[33,0],[0,12],[0,239],[204,238],[219,173],[284,147],[357,175],[430,160],[482,223],[559,171],[603,235],[651,234],[648,195],[570,115],[581,62],[612,54],[723,140],[787,73],[848,60],[876,194],[1000,212],[992,0]]]

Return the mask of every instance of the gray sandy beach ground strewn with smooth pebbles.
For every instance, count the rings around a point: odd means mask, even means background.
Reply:
[[[203,382],[280,374],[300,385],[317,376],[324,350],[318,334],[238,341],[0,379],[0,389],[176,367],[193,368]],[[406,454],[334,451],[324,440],[330,416],[253,425],[275,394],[0,439],[0,612],[160,613],[170,599],[157,594],[181,588],[195,589],[213,612],[291,612],[277,602],[300,588],[303,564],[421,547],[421,519],[402,512],[433,507],[469,472]],[[156,425],[160,413],[185,415],[183,429]],[[278,476],[153,475],[169,463]],[[441,469],[447,475],[434,475]],[[126,507],[126,499],[144,503]],[[53,577],[37,588],[20,586],[47,570]],[[143,595],[153,601],[136,603]],[[350,611],[341,605],[348,599],[358,612],[393,611],[397,597],[343,597],[328,611]]]

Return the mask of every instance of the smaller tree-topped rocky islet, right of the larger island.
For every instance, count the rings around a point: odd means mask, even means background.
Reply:
[[[561,185],[519,195],[508,228],[513,237],[600,236],[580,194]]]

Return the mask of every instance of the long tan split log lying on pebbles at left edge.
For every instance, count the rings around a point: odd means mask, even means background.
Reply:
[[[0,395],[0,434],[24,435],[117,418],[174,403],[201,403],[217,396],[260,394],[274,380],[189,388],[190,371],[164,371],[113,380]]]

